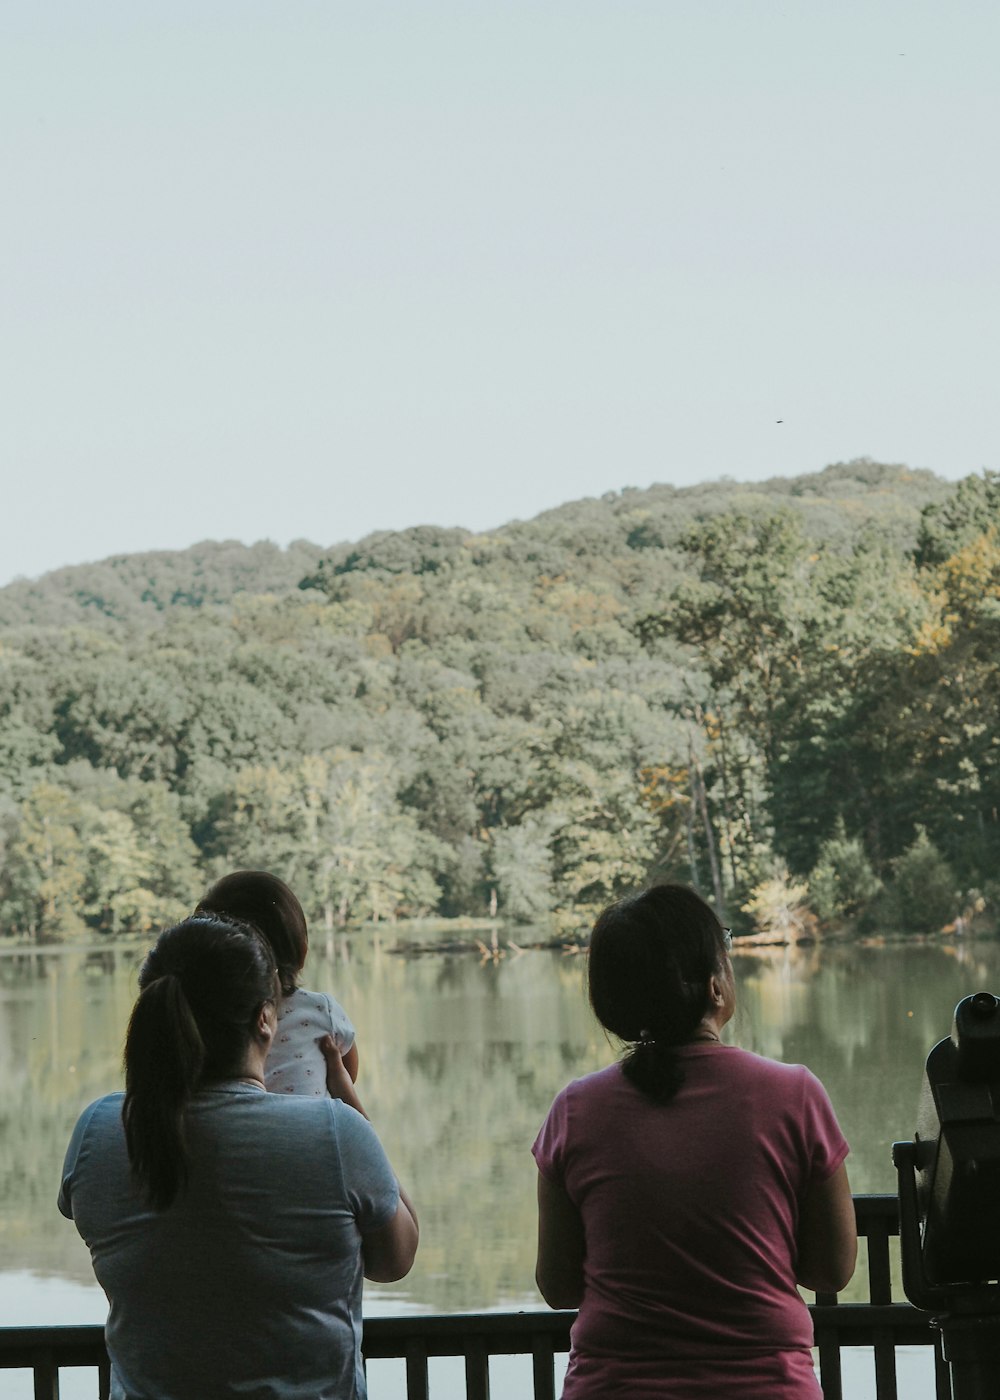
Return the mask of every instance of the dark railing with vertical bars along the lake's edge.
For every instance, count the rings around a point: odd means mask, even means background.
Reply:
[[[811,1305],[825,1400],[843,1400],[845,1347],[873,1350],[878,1400],[899,1400],[898,1347],[933,1348],[937,1400],[951,1400],[948,1368],[930,1316],[892,1296],[899,1275],[898,1254],[891,1249],[899,1235],[896,1197],[856,1196],[854,1212],[859,1238],[867,1245],[867,1301],[840,1302],[835,1294],[818,1294]],[[490,1357],[531,1357],[532,1389],[525,1389],[524,1400],[555,1400],[556,1357],[569,1351],[573,1317],[571,1312],[371,1317],[364,1324],[364,1354],[370,1362],[391,1358],[405,1364],[406,1400],[430,1400],[430,1361],[436,1357],[462,1358],[466,1400],[489,1400]],[[34,1400],[59,1400],[63,1366],[92,1366],[95,1400],[106,1400],[109,1372],[101,1327],[0,1327],[0,1371],[31,1371]],[[371,1393],[378,1400],[374,1385]]]

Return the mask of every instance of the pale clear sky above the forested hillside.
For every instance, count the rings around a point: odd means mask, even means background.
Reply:
[[[996,468],[997,73],[996,0],[7,0],[0,582]]]

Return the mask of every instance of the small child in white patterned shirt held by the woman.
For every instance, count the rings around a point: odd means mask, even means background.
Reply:
[[[345,1070],[357,1078],[357,1040],[343,1007],[325,991],[305,991],[298,976],[310,948],[303,906],[284,881],[268,871],[234,871],[217,881],[195,913],[223,914],[252,924],[275,955],[282,997],[277,1032],[265,1084],[272,1093],[326,1093],[326,1058],[319,1049],[332,1036]]]

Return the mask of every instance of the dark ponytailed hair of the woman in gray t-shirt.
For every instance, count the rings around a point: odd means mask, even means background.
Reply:
[[[125,1037],[122,1120],[133,1179],[154,1210],[165,1210],[188,1182],[188,1102],[203,1084],[242,1072],[277,976],[255,928],[206,914],[160,935],[139,987]]]

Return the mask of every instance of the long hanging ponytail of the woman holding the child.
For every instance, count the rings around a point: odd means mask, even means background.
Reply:
[[[181,979],[139,994],[125,1042],[125,1141],[136,1184],[164,1210],[188,1183],[183,1113],[204,1065],[204,1042]]]

